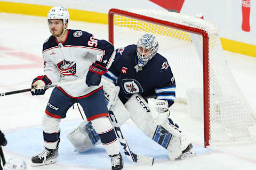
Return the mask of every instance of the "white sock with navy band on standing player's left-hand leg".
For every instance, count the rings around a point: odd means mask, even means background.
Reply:
[[[48,149],[55,149],[60,138],[60,118],[54,118],[44,114],[42,119],[44,146]]]

